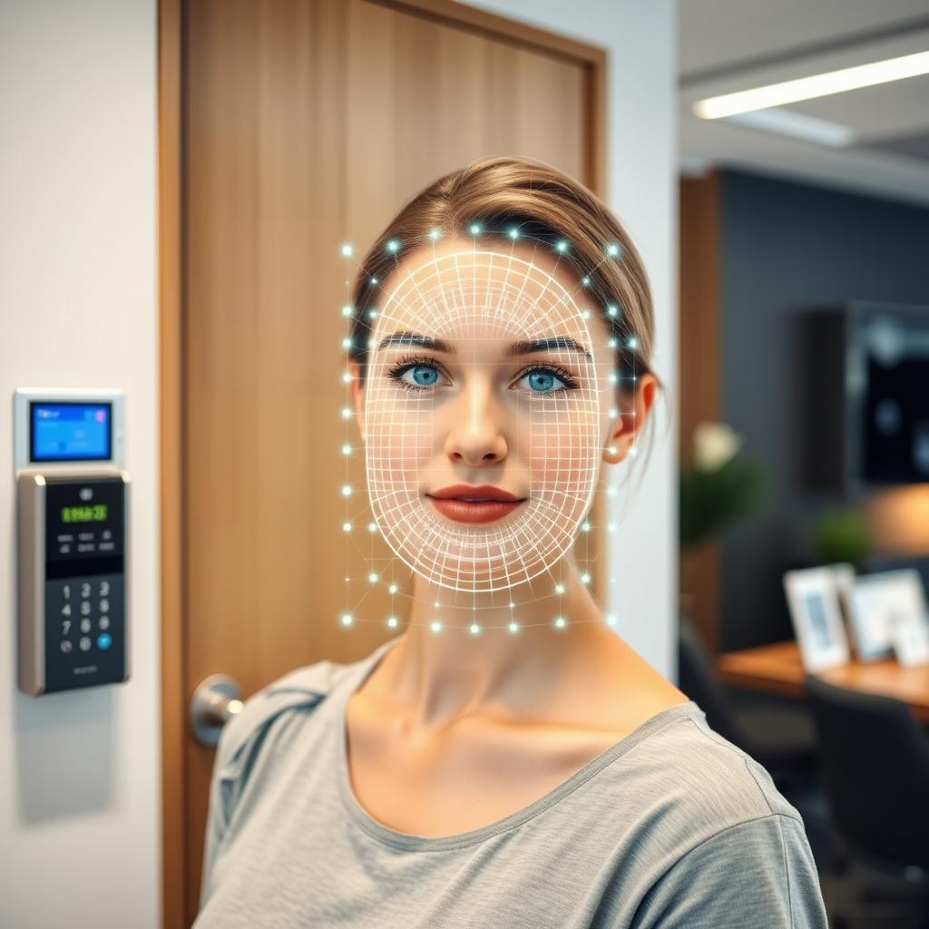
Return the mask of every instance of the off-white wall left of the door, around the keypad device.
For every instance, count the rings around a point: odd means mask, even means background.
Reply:
[[[154,0],[0,0],[0,926],[160,923]],[[12,393],[119,386],[132,679],[16,687]]]

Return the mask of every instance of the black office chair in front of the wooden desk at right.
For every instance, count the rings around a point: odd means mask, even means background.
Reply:
[[[857,859],[895,876],[896,899],[917,901],[918,925],[929,926],[929,741],[899,700],[835,687],[815,675],[806,677],[806,694],[831,822],[846,846],[845,869]],[[867,912],[858,908],[854,915]]]

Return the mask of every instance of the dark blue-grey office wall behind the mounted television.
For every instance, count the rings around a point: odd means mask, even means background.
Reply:
[[[726,172],[721,230],[721,418],[765,468],[768,511],[721,556],[723,650],[792,638],[781,587],[835,497],[805,489],[798,316],[850,299],[929,304],[929,209]]]

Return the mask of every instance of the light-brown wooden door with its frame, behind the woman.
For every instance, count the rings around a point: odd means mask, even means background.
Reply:
[[[193,690],[223,673],[248,696],[396,635],[383,586],[367,622],[338,622],[364,569],[340,538],[340,246],[363,255],[478,157],[529,155],[603,194],[605,54],[444,0],[162,0],[160,17],[164,922],[180,926],[214,758],[190,735]]]

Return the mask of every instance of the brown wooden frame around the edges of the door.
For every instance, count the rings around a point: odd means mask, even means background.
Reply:
[[[260,0],[255,0],[260,2]],[[586,74],[584,183],[606,199],[606,49],[544,32],[452,0],[364,0],[458,30],[579,64]],[[161,555],[162,924],[184,929],[184,752],[189,696],[184,675],[183,87],[185,0],[158,0],[158,312]],[[602,592],[601,592],[602,593]]]

